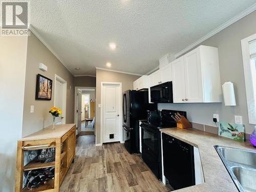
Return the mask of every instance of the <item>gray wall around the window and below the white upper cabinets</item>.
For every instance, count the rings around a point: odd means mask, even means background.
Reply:
[[[223,103],[160,103],[158,109],[173,109],[187,112],[188,120],[215,126],[212,114],[219,114],[220,120],[234,122],[234,115],[242,115],[245,132],[253,131],[248,122],[241,39],[256,33],[256,11],[208,38],[201,45],[219,48],[221,83],[232,81],[236,93],[237,106],[225,106]]]

